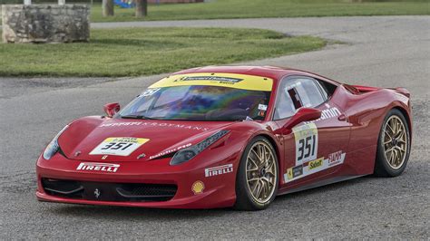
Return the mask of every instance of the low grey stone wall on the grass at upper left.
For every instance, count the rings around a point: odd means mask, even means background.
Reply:
[[[4,43],[90,40],[90,5],[3,5]]]

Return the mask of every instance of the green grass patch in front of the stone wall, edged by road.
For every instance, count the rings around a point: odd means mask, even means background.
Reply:
[[[0,76],[136,76],[317,50],[311,36],[239,28],[92,30],[90,43],[0,43]]]

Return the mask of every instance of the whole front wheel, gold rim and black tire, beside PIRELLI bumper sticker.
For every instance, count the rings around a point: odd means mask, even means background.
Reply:
[[[261,210],[275,199],[279,185],[278,159],[269,140],[250,141],[240,159],[236,178],[236,204],[239,210]]]

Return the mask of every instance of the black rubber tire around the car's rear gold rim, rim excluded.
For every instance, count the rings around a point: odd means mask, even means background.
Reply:
[[[391,121],[392,120],[400,120],[401,123],[403,124],[403,127],[405,128],[405,131],[406,131],[406,135],[405,135],[406,136],[406,144],[405,144],[406,151],[405,151],[405,154],[403,154],[404,158],[401,158],[402,159],[401,161],[397,161],[397,162],[401,162],[401,163],[397,163],[398,166],[395,166],[394,164],[390,164],[390,160],[391,161],[393,161],[393,160],[390,159],[389,153],[387,153],[387,152],[389,152],[389,150],[386,150],[386,149],[389,149],[390,145],[393,145],[393,142],[387,144],[388,148],[386,148],[386,144],[384,143],[387,140],[390,140],[388,138],[389,135],[386,138],[384,136],[386,129],[388,131],[390,131],[389,127],[387,127],[387,125],[389,125],[388,121],[390,121],[390,120]],[[384,140],[384,139],[386,139],[386,140]],[[406,164],[407,164],[407,161],[409,159],[410,150],[411,150],[411,134],[410,134],[410,130],[409,130],[409,126],[407,124],[406,118],[401,111],[399,111],[397,109],[392,109],[391,111],[389,111],[386,114],[386,118],[384,119],[382,126],[381,126],[381,130],[379,131],[379,137],[377,140],[374,176],[383,177],[383,178],[391,178],[391,177],[397,177],[400,174],[402,174],[403,171],[406,169]],[[400,153],[400,152],[398,152],[398,153]],[[393,155],[393,154],[390,154],[390,155]],[[401,156],[403,157],[403,155],[401,155]]]

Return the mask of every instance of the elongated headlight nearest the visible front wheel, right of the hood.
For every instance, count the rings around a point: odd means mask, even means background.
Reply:
[[[215,141],[220,140],[220,138],[225,136],[227,133],[229,133],[229,130],[220,130],[211,135],[209,138],[201,140],[194,146],[179,150],[171,159],[171,165],[178,165],[182,162],[189,161],[190,159],[197,156],[197,154],[199,154],[201,151],[203,151],[203,149],[208,148]]]

